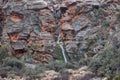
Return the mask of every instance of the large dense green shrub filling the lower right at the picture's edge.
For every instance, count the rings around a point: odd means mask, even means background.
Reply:
[[[120,71],[120,52],[112,45],[105,46],[103,53],[97,54],[92,58],[89,67],[92,71],[104,74],[113,78]]]

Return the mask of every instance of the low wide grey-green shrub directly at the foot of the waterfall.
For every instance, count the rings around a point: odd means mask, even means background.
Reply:
[[[39,72],[44,72],[46,70],[55,70],[56,72],[60,72],[64,69],[77,69],[78,66],[72,63],[64,63],[63,61],[51,61],[45,65],[38,65],[36,70]]]

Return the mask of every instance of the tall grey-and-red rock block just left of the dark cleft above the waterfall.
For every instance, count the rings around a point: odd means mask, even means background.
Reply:
[[[41,10],[39,12],[39,17],[41,19],[40,25],[41,25],[42,31],[47,31],[50,33],[55,32],[56,24],[55,24],[53,14],[51,13],[50,10],[47,10],[47,9]]]

